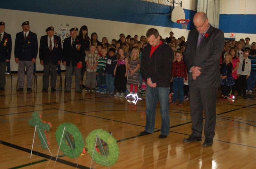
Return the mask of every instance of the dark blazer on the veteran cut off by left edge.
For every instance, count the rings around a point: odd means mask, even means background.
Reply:
[[[12,37],[10,34],[3,32],[2,41],[0,43],[0,62],[5,62],[6,59],[11,59],[12,53]]]

